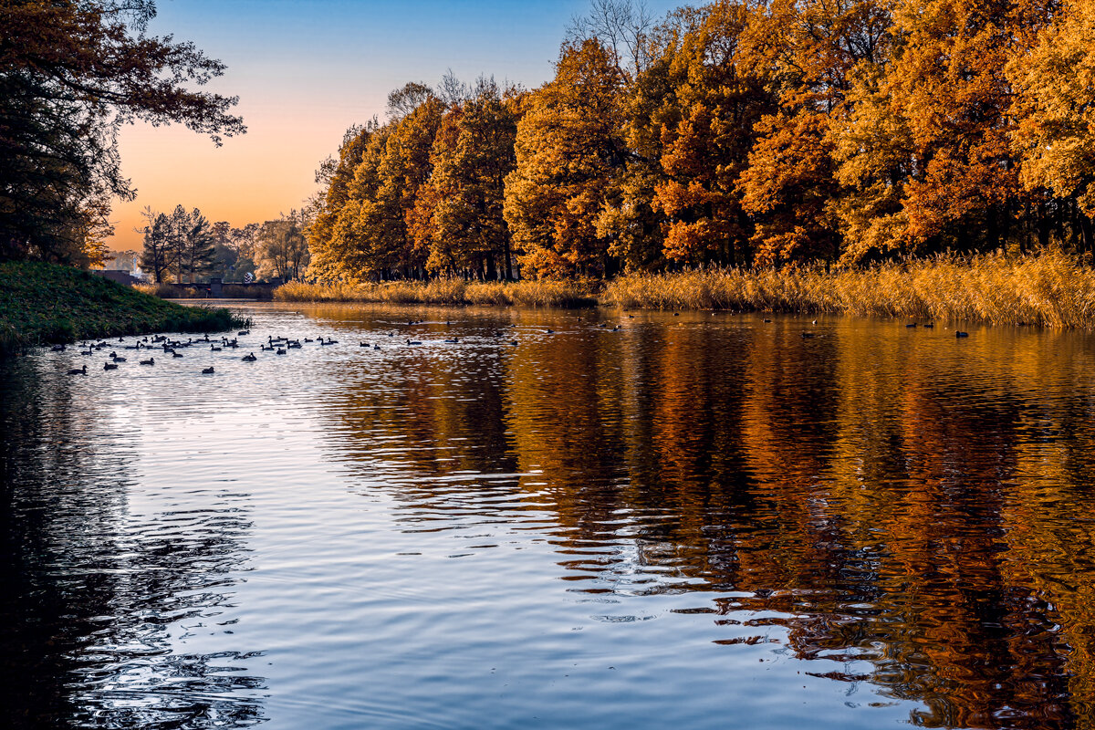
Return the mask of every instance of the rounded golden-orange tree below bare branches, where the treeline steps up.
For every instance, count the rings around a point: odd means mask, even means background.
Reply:
[[[533,92],[517,125],[504,217],[521,265],[535,276],[611,275],[618,263],[597,219],[627,155],[623,79],[597,39],[566,44],[555,78]]]

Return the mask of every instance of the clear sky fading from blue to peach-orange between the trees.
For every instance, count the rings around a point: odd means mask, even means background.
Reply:
[[[650,2],[655,16],[679,2]],[[151,33],[193,40],[228,65],[207,86],[239,95],[249,131],[216,148],[182,127],[126,127],[132,202],[115,201],[116,251],[140,248],[140,210],[197,207],[233,225],[277,218],[313,194],[343,132],[383,118],[388,92],[451,68],[534,88],[552,74],[566,25],[587,0],[554,2],[160,0]]]

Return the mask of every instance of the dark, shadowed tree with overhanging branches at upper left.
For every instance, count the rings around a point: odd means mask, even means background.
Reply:
[[[0,258],[87,265],[110,198],[134,192],[116,132],[132,120],[244,131],[234,99],[199,91],[223,65],[146,34],[151,0],[9,2],[0,12]]]

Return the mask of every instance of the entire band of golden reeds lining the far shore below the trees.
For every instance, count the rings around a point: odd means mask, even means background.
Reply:
[[[630,274],[607,282],[291,282],[275,302],[619,306],[1095,328],[1095,269],[1060,251],[819,267]]]

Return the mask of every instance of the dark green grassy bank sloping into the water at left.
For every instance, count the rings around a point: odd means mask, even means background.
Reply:
[[[224,309],[182,306],[87,271],[0,264],[0,352],[150,332],[219,332],[244,322]]]

